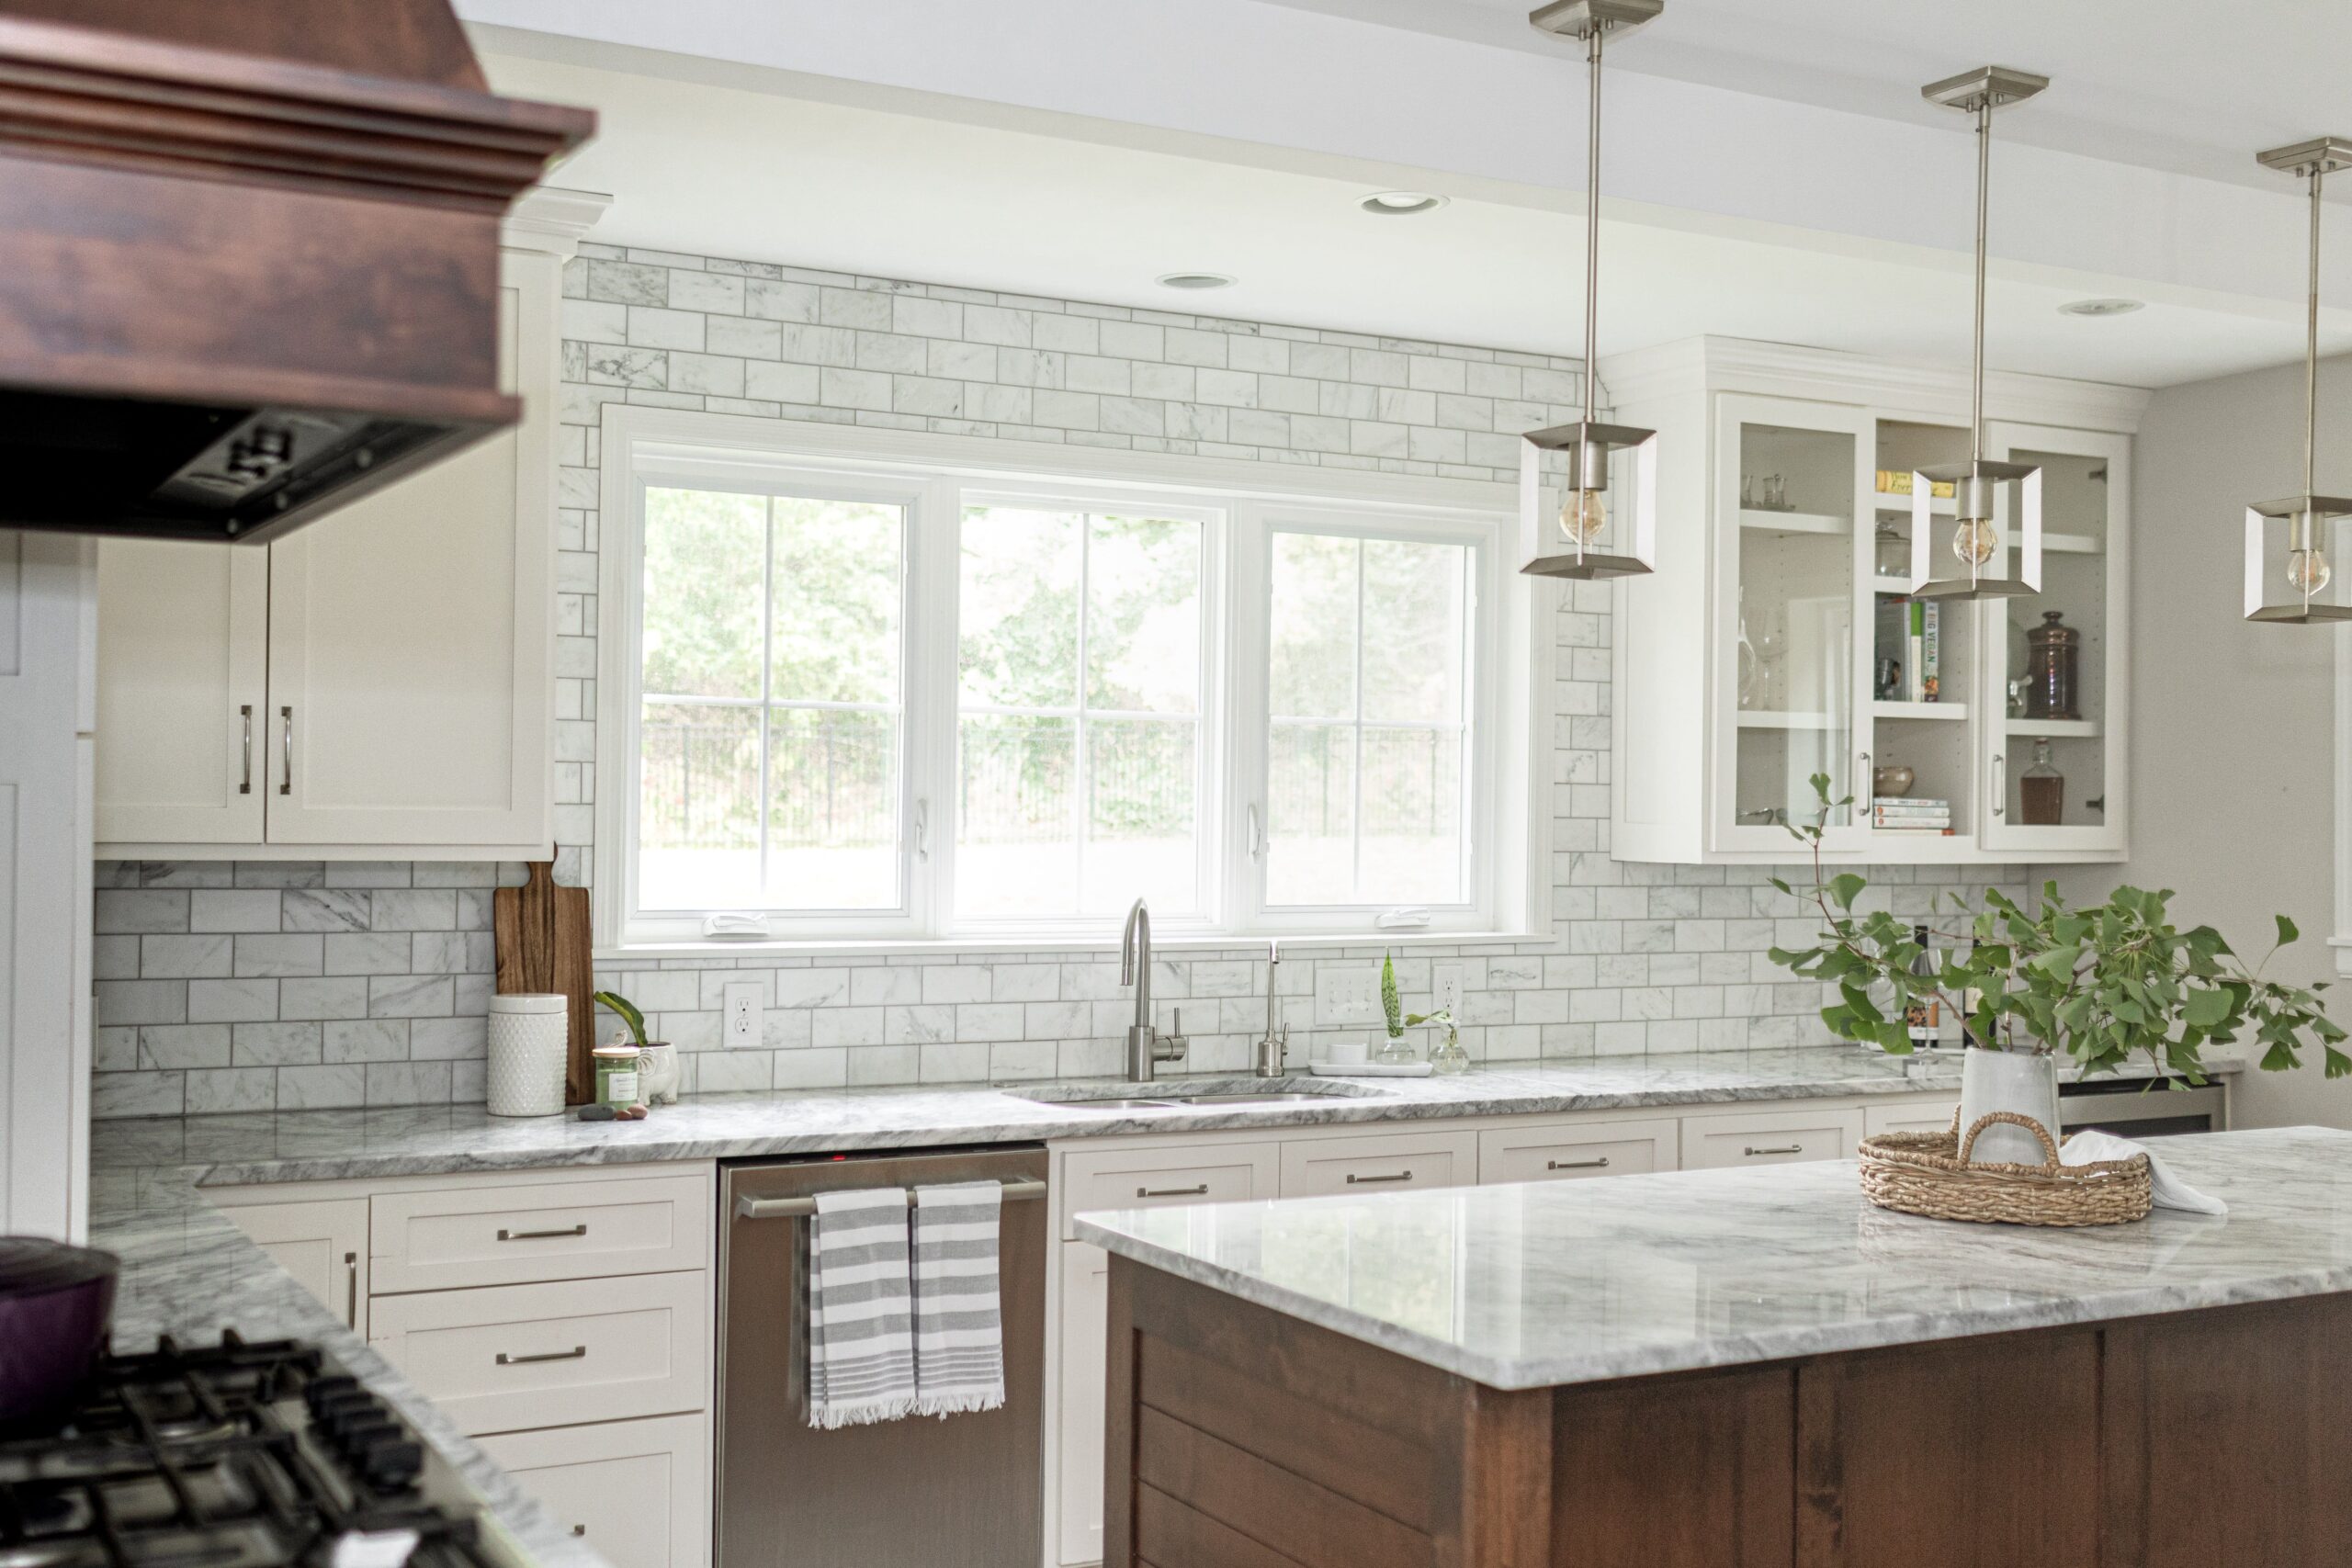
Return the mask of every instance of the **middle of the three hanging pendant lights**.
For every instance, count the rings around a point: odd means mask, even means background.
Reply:
[[[1992,193],[1992,110],[2049,87],[2046,75],[1985,66],[1919,94],[1929,103],[1976,118],[1976,348],[1969,369],[1969,461],[1931,463],[1912,475],[1912,576],[1915,599],[2004,599],[2042,592],[2042,470],[2034,463],[1999,463],[1985,456],[1985,219]],[[1952,550],[1933,550],[1936,487],[1952,487]],[[2002,487],[2013,484],[2018,534],[2016,571],[1999,529]],[[1955,571],[1957,567],[1957,571]],[[1943,569],[1943,576],[1931,576]]]

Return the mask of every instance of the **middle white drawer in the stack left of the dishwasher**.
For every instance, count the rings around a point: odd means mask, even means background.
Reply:
[[[379,1295],[369,1345],[468,1436],[701,1410],[706,1279]]]

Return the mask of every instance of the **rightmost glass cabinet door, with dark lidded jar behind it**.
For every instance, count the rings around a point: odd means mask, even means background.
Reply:
[[[2124,846],[2131,442],[1992,425],[1990,447],[2042,468],[2042,592],[1992,604],[1985,682],[1985,849]]]

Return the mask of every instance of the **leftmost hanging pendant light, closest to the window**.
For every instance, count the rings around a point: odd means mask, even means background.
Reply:
[[[1653,567],[1658,536],[1658,433],[1609,425],[1595,414],[1599,357],[1599,259],[1602,259],[1602,40],[1630,33],[1665,9],[1665,0],[1557,0],[1529,12],[1529,21],[1557,38],[1581,38],[1592,73],[1592,127],[1585,139],[1585,416],[1573,425],[1529,430],[1519,449],[1519,538],[1536,559],[1519,567],[1529,576],[1611,578],[1639,576]],[[1559,534],[1545,529],[1543,454],[1566,454],[1566,491],[1557,508]],[[1616,520],[1623,550],[1609,550],[1609,454],[1632,454],[1632,517]],[[1562,545],[1566,545],[1562,550]]]

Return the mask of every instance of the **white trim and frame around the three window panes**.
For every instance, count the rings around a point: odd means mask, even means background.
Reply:
[[[1552,731],[1555,731],[1555,614],[1559,588],[1517,571],[1515,491],[1482,480],[1428,475],[1381,475],[1341,468],[1254,463],[1183,454],[1108,451],[1047,442],[1009,442],[969,435],[866,430],[774,421],[743,414],[701,414],[604,404],[600,440],[600,595],[597,595],[597,745],[595,745],[595,929],[602,954],[811,954],[811,952],[920,952],[920,950],[1054,950],[1101,945],[1103,922],[967,924],[946,929],[953,889],[946,865],[924,875],[910,856],[910,884],[901,910],[884,914],[844,912],[779,917],[771,940],[706,940],[701,919],[633,919],[630,875],[635,856],[637,766],[637,670],[642,637],[642,494],[647,475],[684,473],[734,477],[790,489],[816,475],[856,491],[880,489],[908,501],[908,614],[903,726],[903,844],[915,842],[917,802],[927,811],[927,837],[936,849],[953,835],[955,759],[955,609],[957,531],[924,527],[953,517],[960,491],[993,491],[1025,498],[1084,496],[1134,505],[1150,496],[1185,515],[1223,512],[1209,529],[1202,559],[1204,597],[1204,691],[1223,686],[1225,722],[1202,729],[1202,769],[1211,788],[1202,795],[1204,856],[1221,858],[1211,886],[1209,922],[1169,922],[1167,938],[1181,945],[1232,945],[1256,936],[1284,940],[1331,940],[1350,945],[1421,945],[1468,940],[1526,940],[1550,933],[1552,903]],[[1479,755],[1482,778],[1470,804],[1470,832],[1479,870],[1479,898],[1428,929],[1381,931],[1362,910],[1268,912],[1258,903],[1258,875],[1237,832],[1256,804],[1263,825],[1265,795],[1265,614],[1237,614],[1263,604],[1270,527],[1315,520],[1310,527],[1364,536],[1414,536],[1461,543],[1479,538],[1479,637],[1475,658],[1494,679],[1479,686],[1472,726],[1486,726]],[[1214,564],[1211,564],[1214,562]],[[1258,595],[1258,597],[1247,597]],[[1543,635],[1536,635],[1543,628]],[[1214,682],[1214,684],[1211,684]],[[1209,705],[1214,712],[1214,703]],[[1230,745],[1218,755],[1221,745]],[[1517,844],[1512,842],[1517,839]],[[790,926],[786,931],[786,926]],[[816,931],[823,926],[823,933]],[[1108,931],[1115,936],[1115,926]]]

